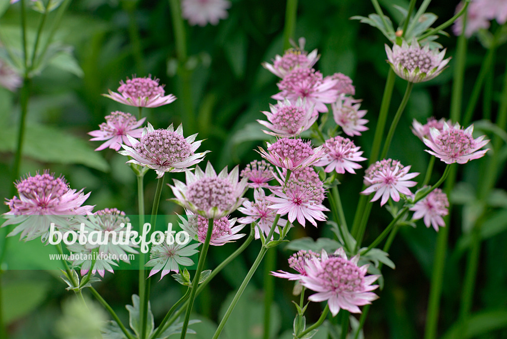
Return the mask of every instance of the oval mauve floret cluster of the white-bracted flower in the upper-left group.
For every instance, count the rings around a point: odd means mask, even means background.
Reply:
[[[192,154],[192,146],[183,135],[165,129],[141,136],[134,150],[141,157],[152,159],[160,165],[185,161]]]

